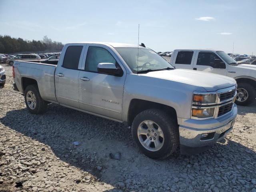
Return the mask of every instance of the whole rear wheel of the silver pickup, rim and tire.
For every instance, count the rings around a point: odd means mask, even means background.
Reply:
[[[46,111],[47,104],[40,96],[36,85],[29,85],[26,87],[25,102],[28,111],[32,114],[42,114]]]

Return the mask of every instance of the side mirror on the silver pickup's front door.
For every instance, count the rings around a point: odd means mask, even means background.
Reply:
[[[99,73],[118,77],[121,77],[124,74],[123,70],[121,68],[116,68],[114,63],[99,63],[97,70]]]

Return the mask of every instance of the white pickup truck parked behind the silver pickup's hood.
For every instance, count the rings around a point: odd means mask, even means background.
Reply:
[[[238,84],[236,104],[245,106],[255,101],[256,68],[253,65],[238,65],[223,51],[176,49],[170,64],[177,69],[193,69],[234,78]]]

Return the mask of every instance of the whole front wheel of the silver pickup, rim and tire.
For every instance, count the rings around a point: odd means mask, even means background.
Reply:
[[[179,145],[178,124],[158,109],[145,110],[135,117],[132,136],[140,150],[154,159],[168,157]]]

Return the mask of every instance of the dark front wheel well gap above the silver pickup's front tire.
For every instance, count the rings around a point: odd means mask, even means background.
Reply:
[[[177,120],[176,110],[170,106],[156,103],[156,102],[141,100],[141,99],[133,99],[130,102],[130,106],[129,106],[129,110],[128,110],[128,126],[132,125],[134,118],[140,112],[147,110],[147,109],[163,110],[164,112],[170,114],[170,116],[174,117],[175,120]]]

